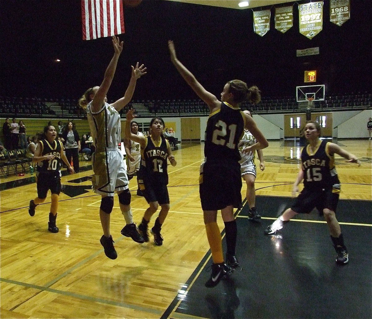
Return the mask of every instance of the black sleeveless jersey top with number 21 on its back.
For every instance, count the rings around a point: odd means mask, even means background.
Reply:
[[[205,130],[204,156],[208,160],[233,159],[240,161],[238,143],[243,136],[244,114],[227,102],[208,117]]]

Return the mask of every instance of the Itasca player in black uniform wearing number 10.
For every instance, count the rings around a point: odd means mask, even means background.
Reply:
[[[58,227],[55,225],[58,209],[58,198],[61,192],[61,160],[67,165],[70,174],[74,173],[63,151],[62,142],[56,140],[57,131],[52,125],[44,127],[43,139],[38,142],[35,154],[32,157],[33,162],[38,162],[38,171],[36,173],[38,197],[30,200],[28,212],[30,216],[35,215],[37,205],[44,203],[47,198],[48,190],[52,195],[52,203],[49,213],[48,231],[58,233]]]

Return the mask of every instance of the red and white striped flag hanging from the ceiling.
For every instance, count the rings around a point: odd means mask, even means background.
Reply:
[[[111,37],[124,33],[121,0],[81,0],[83,40]]]

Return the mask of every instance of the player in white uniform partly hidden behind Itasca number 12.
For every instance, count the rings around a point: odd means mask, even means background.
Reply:
[[[131,132],[137,136],[144,136],[141,132],[138,132],[138,123],[136,121],[131,122]],[[128,180],[131,180],[133,176],[137,176],[137,172],[140,170],[141,145],[134,140],[125,138],[124,148],[126,152],[126,173],[128,174]],[[137,196],[143,196],[138,184],[138,178],[137,185]]]

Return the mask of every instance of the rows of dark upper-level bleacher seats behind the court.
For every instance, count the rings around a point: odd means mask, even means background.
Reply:
[[[182,100],[132,100],[131,105],[140,117],[161,116],[207,116],[208,106],[198,99]],[[314,101],[313,107],[322,111],[363,110],[372,107],[372,94],[357,92],[327,95],[324,101]],[[257,105],[244,102],[242,109],[255,113],[301,112],[301,105],[294,97],[262,97]],[[125,114],[123,109],[121,114]],[[3,117],[50,117],[84,118],[85,113],[78,106],[77,99],[60,98],[14,98],[0,97],[0,113]]]

